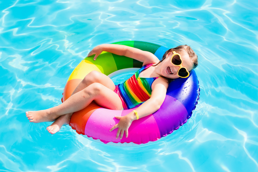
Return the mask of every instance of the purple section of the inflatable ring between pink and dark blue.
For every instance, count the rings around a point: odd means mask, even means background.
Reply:
[[[187,121],[188,112],[174,97],[166,95],[160,109],[153,114],[159,127],[160,136],[166,136]]]

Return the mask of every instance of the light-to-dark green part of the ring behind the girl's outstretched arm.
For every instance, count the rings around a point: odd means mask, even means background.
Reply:
[[[149,43],[149,42],[143,42],[143,41],[120,41],[115,42],[113,44],[119,44],[119,45],[126,45],[134,48],[138,48],[143,51],[149,51],[152,54],[154,54],[160,45]],[[112,54],[109,52],[102,52],[98,58],[94,61],[93,60],[94,55],[85,58],[85,60],[88,60],[95,64],[105,75],[109,75],[112,72],[115,72],[120,69],[125,68],[141,68],[142,62],[128,58],[125,56],[120,56],[116,54]]]

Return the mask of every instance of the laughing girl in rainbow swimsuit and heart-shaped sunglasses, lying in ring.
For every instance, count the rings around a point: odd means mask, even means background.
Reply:
[[[140,97],[140,99],[144,99],[143,103],[126,99],[125,97],[128,97],[127,94],[130,93],[126,92],[127,88],[125,89],[123,84],[115,86],[108,76],[92,71],[85,76],[65,102],[46,110],[28,111],[26,112],[28,120],[35,123],[55,120],[52,125],[47,127],[49,133],[55,134],[62,125],[69,124],[72,113],[84,109],[92,101],[103,108],[113,110],[130,109],[142,103],[136,109],[136,112],[132,111],[123,117],[115,116],[119,119],[119,122],[110,131],[118,128],[116,138],[120,135],[122,139],[124,132],[126,137],[128,136],[128,128],[133,120],[148,116],[160,108],[165,100],[170,79],[186,78],[189,76],[189,71],[198,65],[197,55],[187,45],[171,48],[160,61],[150,52],[117,44],[96,46],[87,57],[95,54],[94,60],[96,60],[102,51],[127,56],[143,62],[143,67],[139,70],[137,77],[139,76],[140,80],[148,80],[145,87],[149,86],[149,91],[147,94],[139,89],[138,92],[141,93],[135,92],[135,94],[138,94],[136,96],[144,96],[144,98]],[[132,78],[126,81],[127,84],[135,84]],[[137,87],[137,83],[135,87]]]

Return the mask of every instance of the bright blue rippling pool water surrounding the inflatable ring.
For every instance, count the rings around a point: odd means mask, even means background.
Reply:
[[[257,1],[0,0],[0,171],[258,171]],[[172,134],[147,145],[91,141],[25,111],[60,104],[96,45],[188,44],[200,100]]]

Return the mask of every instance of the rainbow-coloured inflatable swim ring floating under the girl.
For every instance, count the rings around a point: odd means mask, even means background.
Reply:
[[[168,50],[166,47],[141,41],[122,41],[114,44],[149,51],[159,59]],[[142,67],[142,62],[108,52],[102,52],[96,61],[93,60],[93,56],[82,60],[71,73],[63,92],[62,101],[68,99],[80,81],[92,70],[109,75],[120,69]],[[172,81],[168,86],[165,101],[160,109],[149,116],[133,121],[128,130],[127,138],[124,134],[122,139],[116,139],[117,129],[112,132],[109,132],[109,129],[119,122],[115,116],[125,116],[136,108],[110,110],[91,103],[85,109],[75,112],[69,125],[78,134],[87,135],[94,140],[99,139],[103,143],[133,142],[142,144],[156,141],[177,130],[191,117],[199,99],[198,84],[199,81],[194,70],[190,72],[188,78],[178,78]]]

